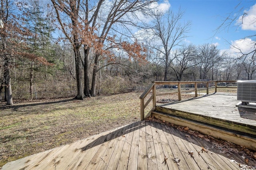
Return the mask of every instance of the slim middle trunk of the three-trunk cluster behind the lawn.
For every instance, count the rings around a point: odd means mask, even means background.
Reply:
[[[90,48],[84,46],[84,95],[90,97],[90,79],[89,79],[89,52]]]

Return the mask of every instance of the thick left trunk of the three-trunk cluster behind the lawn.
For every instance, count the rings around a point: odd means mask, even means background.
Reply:
[[[81,67],[81,54],[79,48],[74,48],[75,54],[75,65],[76,65],[76,85],[77,85],[77,95],[75,99],[83,100],[84,91],[82,88],[82,67]]]

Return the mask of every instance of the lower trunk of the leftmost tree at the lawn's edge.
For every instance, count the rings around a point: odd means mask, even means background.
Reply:
[[[12,86],[11,86],[11,77],[10,77],[10,60],[7,56],[4,59],[4,84],[6,87],[6,97],[7,97],[6,105],[13,105]]]

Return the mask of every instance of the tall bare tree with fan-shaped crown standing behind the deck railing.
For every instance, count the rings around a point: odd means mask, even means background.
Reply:
[[[168,68],[172,63],[174,56],[171,53],[174,47],[186,38],[186,33],[190,29],[190,22],[181,24],[184,12],[179,10],[176,14],[169,10],[164,15],[156,15],[154,18],[154,27],[152,28],[155,42],[152,47],[162,53],[162,60],[165,65],[164,81],[167,81]]]

